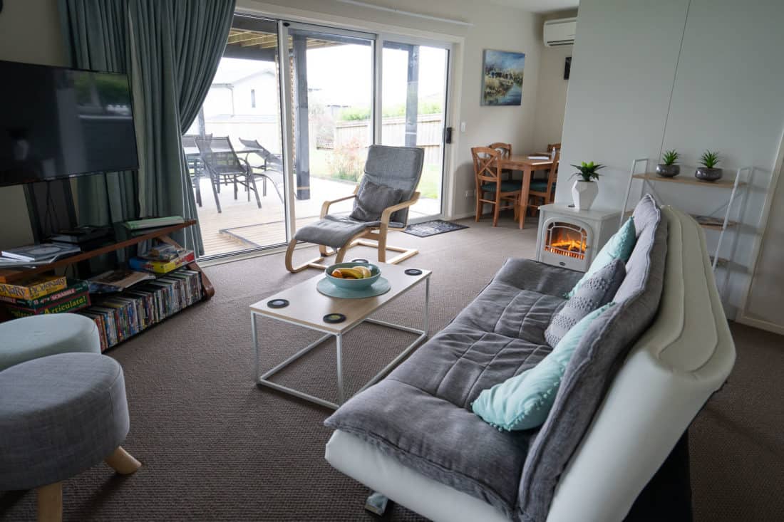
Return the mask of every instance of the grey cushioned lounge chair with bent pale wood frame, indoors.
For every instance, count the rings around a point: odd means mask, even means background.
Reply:
[[[308,267],[324,270],[321,262],[336,254],[335,263],[342,263],[349,248],[363,245],[377,248],[379,263],[387,263],[387,250],[401,252],[388,263],[400,263],[415,256],[416,248],[387,245],[388,230],[403,230],[408,223],[408,207],[419,200],[416,187],[422,176],[424,150],[419,147],[386,147],[371,145],[365,161],[365,176],[346,198],[325,201],[321,219],[297,230],[286,249],[286,270],[296,273]],[[331,216],[329,206],[338,201],[354,199],[350,216]],[[300,266],[292,265],[297,241],[319,245],[320,257]]]

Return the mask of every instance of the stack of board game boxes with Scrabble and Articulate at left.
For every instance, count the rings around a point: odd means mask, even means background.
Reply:
[[[0,303],[11,317],[75,312],[90,305],[87,281],[32,276],[0,283]]]

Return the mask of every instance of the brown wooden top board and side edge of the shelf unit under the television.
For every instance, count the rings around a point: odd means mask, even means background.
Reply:
[[[103,256],[103,254],[108,254],[110,252],[116,252],[118,250],[122,250],[122,248],[138,245],[143,241],[150,241],[152,239],[158,239],[158,241],[163,241],[165,243],[169,243],[170,245],[180,247],[176,241],[169,237],[169,234],[172,234],[172,232],[176,232],[177,230],[183,230],[183,228],[192,227],[196,223],[197,222],[195,219],[191,219],[185,223],[178,223],[176,225],[170,225],[169,227],[151,229],[147,233],[140,231],[139,235],[124,238],[120,241],[114,241],[110,244],[102,245],[86,252],[80,252],[74,256],[69,256],[64,259],[58,259],[54,263],[31,266],[29,268],[2,268],[0,269],[0,283],[11,283],[13,281],[19,281],[20,279],[23,279],[24,277],[27,277],[31,274],[45,274],[46,272],[52,272],[58,268],[64,268],[65,266],[69,266],[74,263],[87,261],[89,259],[93,259],[94,257]],[[209,281],[207,276],[205,276],[204,272],[201,271],[201,267],[199,267],[195,262],[188,263],[187,267],[190,270],[195,270],[201,274],[201,287],[203,288],[204,299],[209,299],[212,297],[212,295],[215,295],[215,288],[212,287],[212,283]]]

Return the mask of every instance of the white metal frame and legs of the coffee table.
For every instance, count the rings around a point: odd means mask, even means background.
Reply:
[[[384,375],[387,375],[387,373],[390,372],[395,366],[397,366],[397,364],[399,364],[405,358],[405,356],[408,355],[408,353],[411,353],[412,350],[414,350],[417,346],[419,346],[419,343],[422,343],[423,340],[427,338],[427,328],[429,328],[430,326],[430,275],[431,274],[426,274],[425,277],[423,277],[419,281],[416,281],[416,283],[406,288],[403,292],[401,292],[399,295],[396,295],[393,299],[390,299],[386,303],[383,303],[381,306],[371,310],[367,315],[365,315],[365,317],[359,319],[355,324],[353,324],[350,328],[348,328],[343,332],[332,332],[325,328],[318,328],[310,324],[306,325],[295,321],[289,321],[282,317],[274,317],[272,315],[267,315],[267,314],[257,312],[256,310],[251,310],[250,320],[251,320],[251,331],[253,335],[253,353],[256,362],[256,385],[268,386],[270,388],[273,388],[274,390],[278,390],[284,393],[289,393],[290,395],[299,397],[300,399],[314,402],[316,404],[321,404],[321,406],[326,406],[327,408],[332,408],[332,409],[339,408],[340,404],[343,404],[343,402],[346,401],[346,395],[345,395],[346,392],[345,389],[343,388],[343,335],[347,334],[354,328],[357,328],[360,324],[366,322],[372,324],[380,324],[381,326],[386,326],[387,328],[394,328],[396,330],[401,330],[403,332],[419,334],[419,336],[416,339],[414,339],[414,341],[411,344],[405,347],[405,350],[399,353],[397,357],[395,357],[389,364],[387,364],[387,366],[383,368],[383,370],[381,370],[376,375],[374,375],[372,379],[370,379],[368,382],[365,383],[365,386],[362,386],[357,391],[357,393],[360,393],[361,391],[368,388],[368,386],[372,386],[376,384],[376,382],[379,382],[379,380],[381,380]],[[381,310],[383,306],[386,306],[388,303],[391,303],[401,295],[405,295],[406,293],[408,293],[409,290],[415,288],[423,281],[425,282],[425,314],[423,319],[423,327],[421,330],[417,328],[404,326],[402,324],[394,324],[394,323],[390,323],[389,321],[380,321],[378,319],[372,319],[369,317],[370,315],[375,314],[377,311]],[[394,291],[394,288],[393,290],[390,290],[390,292],[391,291]],[[338,299],[338,298],[333,298],[333,299]],[[270,368],[269,370],[267,370],[267,372],[260,374],[260,350],[259,350],[259,335],[258,335],[259,328],[256,324],[256,317],[258,316],[274,319],[275,321],[282,321],[289,324],[295,324],[296,326],[301,326],[303,328],[315,330],[316,332],[324,332],[324,335],[322,335],[319,339],[316,339],[313,343],[310,343],[309,345],[305,346],[302,350],[299,350],[297,353],[295,353],[285,361],[275,365],[273,368]],[[289,386],[283,386],[282,384],[278,384],[278,382],[270,381],[270,377],[280,372],[283,368],[289,366],[289,364],[292,364],[292,362],[299,359],[299,357],[303,357],[303,355],[310,352],[310,350],[314,350],[314,348],[321,345],[321,343],[324,343],[330,337],[334,337],[336,343],[336,359],[337,359],[336,362],[337,362],[337,379],[338,379],[338,403],[337,404],[331,401],[325,401],[324,399],[321,399],[321,397],[310,395],[310,393],[304,393],[299,390],[289,388]]]

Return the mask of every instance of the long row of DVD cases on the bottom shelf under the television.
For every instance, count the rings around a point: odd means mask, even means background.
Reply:
[[[200,299],[201,274],[182,269],[96,298],[96,303],[80,314],[96,322],[101,350],[106,350]]]

